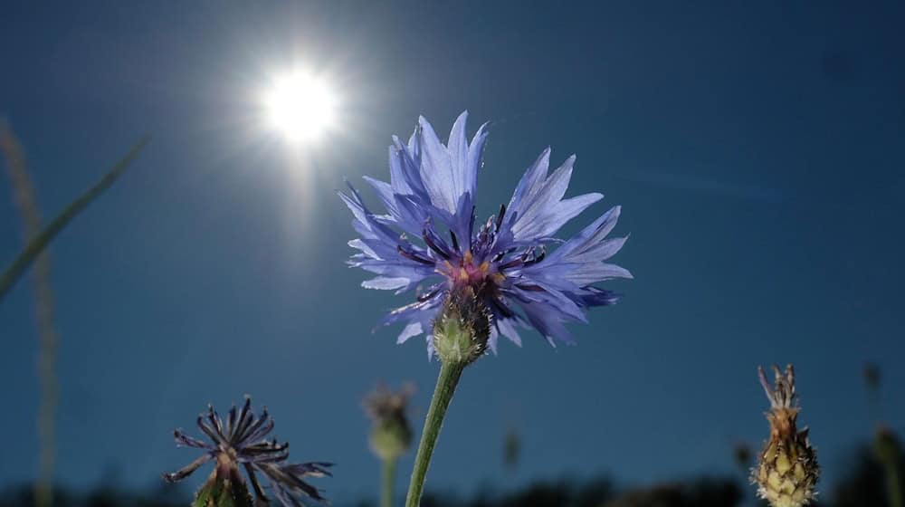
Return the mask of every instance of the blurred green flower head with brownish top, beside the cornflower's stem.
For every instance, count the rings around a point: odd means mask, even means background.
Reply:
[[[397,392],[378,386],[365,398],[365,413],[374,423],[371,429],[371,450],[380,459],[398,458],[412,445],[412,426],[406,412],[408,398],[413,393],[414,386],[411,384]]]

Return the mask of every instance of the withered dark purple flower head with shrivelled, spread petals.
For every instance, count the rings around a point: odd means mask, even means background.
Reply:
[[[270,485],[271,493],[280,500],[284,507],[302,506],[300,499],[303,496],[319,502],[326,501],[317,488],[303,479],[331,475],[328,469],[332,464],[318,462],[287,464],[289,443],[278,444],[275,438],[267,440],[266,436],[273,430],[273,419],[268,415],[266,407],[261,416],[255,416],[251,406],[250,397],[245,397],[245,404],[241,410],[237,411],[233,405],[225,425],[214,411],[214,407],[208,406],[207,413],[198,416],[197,425],[207,435],[209,442],[197,440],[186,435],[181,429],[176,429],[173,432],[176,437],[176,445],[202,449],[204,454],[173,474],[163,474],[164,479],[170,483],[180,481],[195,472],[199,466],[213,459],[216,461],[216,468],[208,483],[202,488],[202,492],[215,489],[208,485],[228,488],[229,484],[247,492],[238,469],[238,466],[242,464],[259,503],[267,501],[255,476],[256,472],[264,474]],[[202,492],[199,492],[199,495]],[[247,496],[247,493],[244,495]]]

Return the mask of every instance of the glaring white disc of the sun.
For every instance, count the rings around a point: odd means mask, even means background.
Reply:
[[[273,81],[264,107],[268,121],[287,139],[305,141],[334,126],[337,98],[326,81],[296,71]]]

